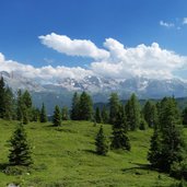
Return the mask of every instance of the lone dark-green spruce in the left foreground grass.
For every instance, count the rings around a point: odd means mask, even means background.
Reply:
[[[22,124],[17,126],[10,139],[10,165],[30,166],[33,164],[31,147],[27,143],[26,132]]]

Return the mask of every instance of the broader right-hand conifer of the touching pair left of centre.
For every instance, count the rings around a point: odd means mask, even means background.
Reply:
[[[82,92],[80,96],[79,115],[81,120],[93,119],[93,102],[86,92]]]

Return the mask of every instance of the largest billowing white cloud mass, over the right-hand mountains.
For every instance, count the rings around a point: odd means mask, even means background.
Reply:
[[[145,77],[151,79],[173,78],[173,72],[187,65],[187,57],[162,49],[159,44],[144,44],[135,48],[125,48],[119,42],[108,38],[104,46],[109,50],[107,60],[92,62],[95,73],[116,79]]]

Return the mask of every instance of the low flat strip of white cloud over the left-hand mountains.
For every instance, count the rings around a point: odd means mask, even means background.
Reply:
[[[42,82],[55,82],[65,78],[82,79],[91,75],[91,70],[85,70],[80,67],[69,68],[63,66],[51,67],[45,66],[35,68],[31,65],[23,65],[13,60],[5,60],[4,56],[0,52],[0,71],[20,73],[25,78],[39,80]]]

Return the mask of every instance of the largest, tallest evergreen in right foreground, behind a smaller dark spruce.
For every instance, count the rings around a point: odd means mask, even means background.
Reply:
[[[180,163],[186,154],[180,117],[174,98],[165,97],[162,100],[160,115],[160,159],[156,163],[152,160],[150,162],[160,170],[170,172],[172,164]]]

